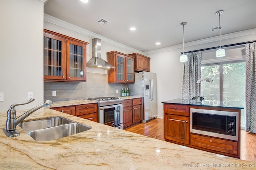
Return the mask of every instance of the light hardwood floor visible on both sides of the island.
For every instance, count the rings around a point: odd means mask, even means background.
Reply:
[[[156,118],[147,123],[140,123],[125,130],[164,141],[163,119]],[[241,130],[240,159],[256,162],[256,134]]]

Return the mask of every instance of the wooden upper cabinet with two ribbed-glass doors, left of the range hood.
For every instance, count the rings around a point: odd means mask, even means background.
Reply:
[[[87,44],[44,29],[44,81],[86,82]]]

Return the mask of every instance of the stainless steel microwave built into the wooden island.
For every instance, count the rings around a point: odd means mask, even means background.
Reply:
[[[190,132],[238,141],[238,112],[190,108]]]

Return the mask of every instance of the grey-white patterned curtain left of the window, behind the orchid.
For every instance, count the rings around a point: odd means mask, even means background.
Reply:
[[[186,53],[188,61],[182,63],[182,82],[180,98],[192,99],[198,96],[199,89],[196,83],[201,78],[201,52]]]

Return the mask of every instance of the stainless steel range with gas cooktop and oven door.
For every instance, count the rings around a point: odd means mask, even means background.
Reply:
[[[98,101],[98,122],[123,129],[123,99],[117,97],[89,98]]]

